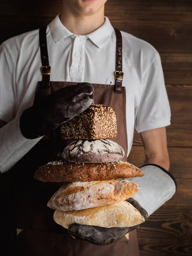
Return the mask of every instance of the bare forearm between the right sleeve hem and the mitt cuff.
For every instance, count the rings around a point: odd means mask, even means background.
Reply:
[[[157,128],[141,132],[145,148],[145,164],[154,163],[169,170],[166,128]]]

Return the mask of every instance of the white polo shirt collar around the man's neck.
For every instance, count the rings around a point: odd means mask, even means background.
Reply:
[[[49,26],[55,43],[58,43],[62,39],[74,35],[61,23],[60,15],[57,15],[55,19],[52,20],[52,22],[49,24]],[[99,29],[96,29],[86,36],[93,42],[93,44],[99,48],[102,48],[111,37],[113,30],[113,26],[111,25],[108,17],[105,17],[105,22],[103,25],[100,26]]]

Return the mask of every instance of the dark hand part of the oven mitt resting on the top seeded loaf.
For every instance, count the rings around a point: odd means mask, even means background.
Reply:
[[[89,83],[69,85],[23,111],[20,130],[27,139],[46,135],[68,122],[93,104],[93,86]]]

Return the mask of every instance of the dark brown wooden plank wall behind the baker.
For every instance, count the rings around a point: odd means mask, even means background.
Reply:
[[[0,0],[0,6],[1,43],[48,24],[62,0]],[[138,228],[140,256],[192,255],[192,0],[108,0],[105,15],[160,53],[172,110],[167,134],[177,192]],[[137,133],[128,160],[144,161]]]

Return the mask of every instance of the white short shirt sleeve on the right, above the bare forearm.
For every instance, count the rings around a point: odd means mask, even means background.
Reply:
[[[156,55],[143,74],[143,91],[135,108],[138,133],[170,125],[171,111],[166,92],[160,55]]]

